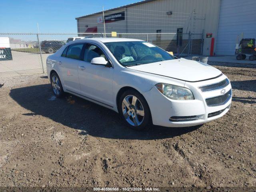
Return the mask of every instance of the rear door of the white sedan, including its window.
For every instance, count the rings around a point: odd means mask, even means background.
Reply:
[[[78,79],[78,66],[82,62],[83,46],[83,43],[71,44],[64,50],[58,61],[62,84],[64,84],[64,87],[68,91],[78,94],[81,92]]]

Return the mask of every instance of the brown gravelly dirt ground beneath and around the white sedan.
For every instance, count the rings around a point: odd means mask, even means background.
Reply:
[[[44,75],[0,79],[0,186],[256,186],[256,66],[211,64],[231,80],[230,111],[146,132],[76,96],[56,99]]]

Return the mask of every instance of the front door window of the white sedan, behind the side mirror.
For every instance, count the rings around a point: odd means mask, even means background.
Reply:
[[[88,44],[84,52],[84,61],[91,62],[95,57],[104,57],[107,60],[105,54],[98,46]]]

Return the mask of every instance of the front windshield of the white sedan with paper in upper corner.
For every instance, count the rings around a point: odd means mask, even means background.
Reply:
[[[122,66],[135,66],[175,59],[165,50],[149,42],[108,42],[105,45]]]

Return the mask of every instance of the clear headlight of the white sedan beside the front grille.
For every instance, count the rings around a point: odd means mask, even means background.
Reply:
[[[156,88],[166,97],[175,100],[193,100],[195,99],[191,90],[170,84],[158,83]]]

